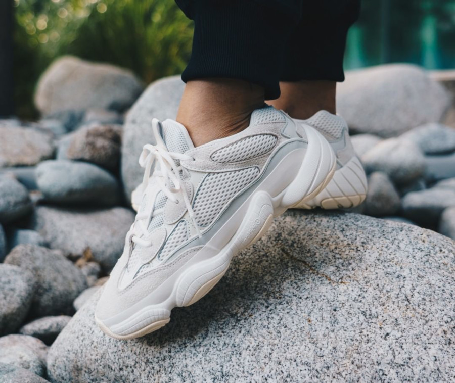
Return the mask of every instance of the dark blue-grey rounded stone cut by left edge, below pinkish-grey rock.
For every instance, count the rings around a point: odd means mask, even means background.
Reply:
[[[0,223],[9,223],[32,211],[28,190],[11,176],[0,176]]]

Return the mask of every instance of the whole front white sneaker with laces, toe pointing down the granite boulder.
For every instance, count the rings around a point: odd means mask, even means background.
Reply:
[[[138,215],[95,314],[117,339],[152,332],[172,308],[201,299],[237,252],[274,216],[316,196],[336,167],[319,132],[272,107],[254,111],[242,132],[197,148],[175,121],[152,128]]]

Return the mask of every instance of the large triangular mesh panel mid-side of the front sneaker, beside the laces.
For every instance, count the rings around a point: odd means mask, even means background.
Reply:
[[[208,174],[202,181],[193,203],[198,225],[209,225],[225,204],[258,174],[257,167]]]

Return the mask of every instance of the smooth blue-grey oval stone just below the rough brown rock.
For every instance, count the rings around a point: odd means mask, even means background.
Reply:
[[[53,203],[112,206],[120,202],[117,179],[93,164],[44,161],[36,167],[36,182],[45,200]]]

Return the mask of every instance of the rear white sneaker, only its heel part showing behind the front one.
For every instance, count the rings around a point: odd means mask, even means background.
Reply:
[[[294,121],[298,125],[310,125],[317,129],[329,141],[337,156],[337,170],[329,184],[316,197],[302,201],[296,208],[352,208],[365,201],[367,176],[354,152],[344,119],[322,110],[307,120]]]

